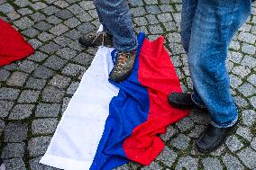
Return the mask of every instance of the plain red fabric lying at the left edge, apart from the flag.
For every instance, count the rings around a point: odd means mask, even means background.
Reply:
[[[34,52],[23,36],[7,22],[0,19],[0,67],[28,57]]]

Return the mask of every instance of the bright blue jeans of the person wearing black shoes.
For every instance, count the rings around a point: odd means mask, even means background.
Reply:
[[[194,85],[192,100],[215,127],[233,126],[238,112],[225,67],[228,46],[251,13],[251,0],[183,0],[181,41]]]

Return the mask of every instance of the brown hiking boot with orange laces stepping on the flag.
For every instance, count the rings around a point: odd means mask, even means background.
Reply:
[[[109,78],[119,83],[125,80],[133,71],[133,64],[136,58],[137,50],[130,52],[118,52],[116,55],[114,68],[109,74]]]

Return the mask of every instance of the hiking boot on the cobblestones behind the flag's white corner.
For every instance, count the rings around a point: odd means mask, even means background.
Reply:
[[[106,31],[99,31],[80,37],[78,42],[85,47],[113,46],[113,36]]]

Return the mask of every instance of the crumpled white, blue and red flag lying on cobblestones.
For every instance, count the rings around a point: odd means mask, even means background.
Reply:
[[[163,46],[141,33],[133,73],[121,84],[108,80],[114,49],[101,47],[69,102],[41,163],[65,170],[110,170],[129,162],[150,165],[164,143],[159,134],[187,116],[169,106],[181,92]]]

